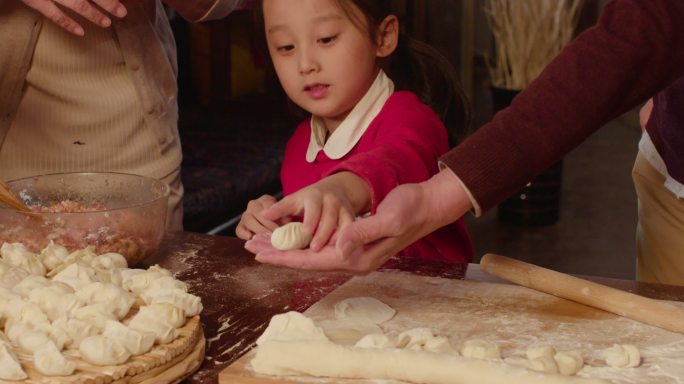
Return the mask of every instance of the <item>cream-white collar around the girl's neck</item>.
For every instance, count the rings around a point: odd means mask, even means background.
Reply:
[[[313,163],[319,151],[323,151],[330,159],[337,160],[354,148],[363,133],[375,117],[380,113],[387,99],[394,92],[394,83],[380,70],[375,81],[366,94],[354,106],[349,115],[328,137],[328,129],[323,118],[311,118],[311,139],[306,150],[306,161]]]

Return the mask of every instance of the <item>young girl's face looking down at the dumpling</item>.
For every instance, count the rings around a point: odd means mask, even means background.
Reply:
[[[263,12],[285,92],[334,131],[375,80],[383,53],[334,0],[264,0]]]

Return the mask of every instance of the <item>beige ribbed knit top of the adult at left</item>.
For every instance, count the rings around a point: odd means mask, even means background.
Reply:
[[[6,180],[70,171],[155,175],[164,165],[114,31],[81,24],[85,37],[43,23],[0,149]]]

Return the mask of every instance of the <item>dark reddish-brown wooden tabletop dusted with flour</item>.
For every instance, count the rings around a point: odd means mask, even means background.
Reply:
[[[202,298],[201,314],[207,339],[206,359],[186,383],[216,383],[218,373],[249,351],[270,318],[304,311],[352,276],[343,273],[296,271],[262,265],[231,237],[191,232],[168,234],[157,256],[159,264],[188,283]],[[393,259],[383,269],[451,279],[501,282],[477,264],[447,264]],[[684,287],[590,278],[593,281],[656,299],[684,301]]]

